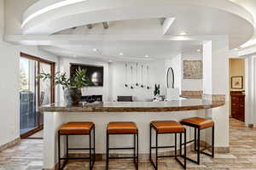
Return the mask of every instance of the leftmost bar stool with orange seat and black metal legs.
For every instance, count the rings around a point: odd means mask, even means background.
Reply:
[[[91,132],[93,130],[93,147],[91,147]],[[66,136],[66,157],[61,158],[61,135]],[[68,136],[69,135],[89,135],[89,148],[68,148]],[[89,157],[69,157],[69,150],[89,150]],[[91,154],[91,150],[93,150],[93,156]],[[92,170],[93,165],[96,161],[96,153],[95,153],[95,125],[93,122],[67,122],[62,125],[58,131],[58,155],[59,155],[59,170],[63,169],[68,160],[81,160],[81,159],[89,159],[90,161],[90,170]],[[61,160],[65,160],[64,164],[61,167]]]

